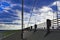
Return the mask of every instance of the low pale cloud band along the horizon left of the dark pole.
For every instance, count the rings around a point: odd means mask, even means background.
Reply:
[[[0,24],[0,30],[20,30],[21,25]]]

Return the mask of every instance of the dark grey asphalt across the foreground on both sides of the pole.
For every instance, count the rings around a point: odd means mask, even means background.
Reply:
[[[24,32],[25,40],[60,40],[60,30],[51,31],[47,36],[45,35],[46,31],[44,30]],[[3,38],[2,40],[21,40],[21,32],[17,32],[7,38]]]

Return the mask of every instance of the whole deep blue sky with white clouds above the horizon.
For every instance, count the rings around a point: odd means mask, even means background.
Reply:
[[[44,23],[46,19],[53,20],[57,10],[60,13],[59,0],[24,0],[24,27]],[[0,0],[1,29],[21,29],[21,11],[22,0]]]

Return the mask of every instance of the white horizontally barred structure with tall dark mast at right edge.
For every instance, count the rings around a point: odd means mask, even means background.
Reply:
[[[56,18],[53,15],[53,27],[59,29],[60,28],[60,11],[58,10],[58,5],[56,2]]]

